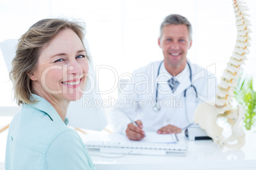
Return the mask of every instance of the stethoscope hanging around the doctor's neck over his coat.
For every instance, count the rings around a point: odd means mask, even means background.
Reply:
[[[161,63],[160,63],[160,65],[159,65],[159,68],[158,68],[158,71],[157,71],[157,77],[159,76],[159,72],[160,72],[160,67],[161,67],[161,65],[162,65],[162,63],[163,63],[164,61],[162,61]],[[187,64],[188,64],[188,69],[189,69],[189,73],[190,73],[190,75],[189,75],[189,79],[190,79],[190,82],[191,82],[191,85],[188,87],[188,88],[190,88],[190,87],[192,87],[193,89],[194,89],[194,91],[196,92],[196,98],[198,98],[198,96],[197,96],[197,90],[196,90],[196,88],[195,88],[195,86],[193,86],[193,84],[192,84],[192,70],[191,70],[191,67],[190,67],[190,64],[187,62]],[[160,105],[158,104],[158,83],[157,83],[157,89],[156,89],[156,94],[155,94],[155,104],[153,105],[153,110],[155,110],[155,112],[159,112],[160,110],[161,110],[161,108],[160,108]],[[171,87],[170,87],[171,88]],[[188,89],[187,88],[187,89]],[[184,98],[185,98],[185,112],[186,112],[186,115],[187,115],[187,98],[186,98],[186,95],[187,95],[187,89],[185,89],[184,90]],[[187,117],[187,121],[188,121],[188,117]],[[189,121],[188,121],[189,122]]]

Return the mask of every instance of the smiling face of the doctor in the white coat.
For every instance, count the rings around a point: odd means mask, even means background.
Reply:
[[[187,25],[171,24],[164,26],[158,42],[162,48],[165,65],[167,64],[172,68],[185,67],[187,51],[192,44]]]

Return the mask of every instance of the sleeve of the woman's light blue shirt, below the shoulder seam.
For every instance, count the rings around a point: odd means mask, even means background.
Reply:
[[[45,153],[45,167],[60,169],[94,169],[90,155],[76,131],[64,131],[56,136]],[[54,168],[53,168],[54,169]]]

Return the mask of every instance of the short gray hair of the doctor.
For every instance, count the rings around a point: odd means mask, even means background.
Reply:
[[[187,28],[188,28],[189,39],[192,40],[192,26],[191,26],[191,23],[187,20],[187,18],[185,18],[184,16],[181,16],[181,15],[178,15],[178,14],[168,15],[168,16],[166,16],[166,18],[164,18],[164,21],[160,25],[160,37],[162,37],[162,29],[164,29],[164,26],[171,25],[171,24],[173,24],[173,25],[182,25],[182,24],[186,25]]]

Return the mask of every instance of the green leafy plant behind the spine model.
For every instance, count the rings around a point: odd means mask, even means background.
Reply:
[[[256,91],[253,90],[253,78],[238,79],[234,97],[245,108],[245,128],[250,130],[255,123]]]

